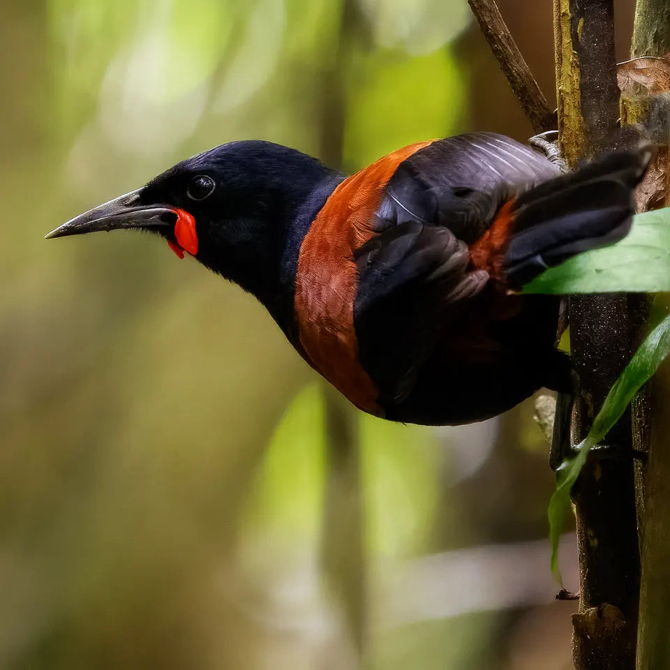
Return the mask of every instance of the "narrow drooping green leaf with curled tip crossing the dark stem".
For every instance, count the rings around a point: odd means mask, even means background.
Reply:
[[[570,490],[579,472],[586,463],[590,449],[601,442],[612,426],[625,412],[628,403],[657,371],[664,358],[670,354],[670,316],[667,316],[647,336],[640,348],[635,352],[631,362],[620,374],[609,390],[600,412],[593,421],[586,439],[576,449],[576,456],[564,461],[556,472],[556,490],[549,500],[549,538],[551,540],[551,571],[560,582],[558,571],[558,540],[565,512],[570,504]]]

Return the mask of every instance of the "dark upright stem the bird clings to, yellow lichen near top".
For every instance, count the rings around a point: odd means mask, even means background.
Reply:
[[[616,136],[613,0],[555,3],[560,139],[574,165],[610,149]],[[581,380],[572,426],[579,441],[629,359],[632,327],[620,295],[573,297],[569,319]],[[573,616],[577,670],[634,667],[639,549],[630,415],[609,433],[606,447],[606,456],[589,457],[573,489],[581,582]]]

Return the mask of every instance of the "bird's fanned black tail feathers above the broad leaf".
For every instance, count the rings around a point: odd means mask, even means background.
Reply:
[[[507,283],[521,287],[577,253],[623,239],[652,156],[650,147],[613,151],[523,193],[505,251]]]

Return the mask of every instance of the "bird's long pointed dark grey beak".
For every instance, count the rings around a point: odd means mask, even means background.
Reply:
[[[174,225],[176,213],[166,205],[140,204],[140,191],[132,191],[114,198],[110,202],[98,205],[84,214],[75,216],[67,223],[59,225],[45,235],[45,239],[52,237],[66,237],[67,235],[81,235],[98,230],[116,230],[117,228],[160,228]]]

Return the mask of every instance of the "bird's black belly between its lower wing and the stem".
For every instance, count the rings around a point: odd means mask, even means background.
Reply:
[[[440,337],[412,392],[386,409],[393,421],[428,426],[487,419],[553,386],[565,371],[556,352],[560,301],[553,296],[505,296],[489,285]],[[516,310],[512,318],[499,318]]]

